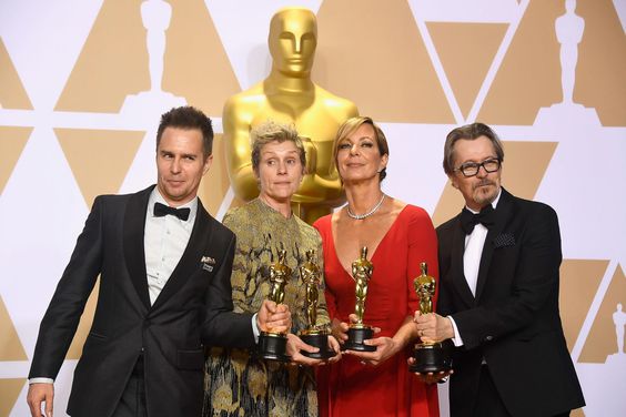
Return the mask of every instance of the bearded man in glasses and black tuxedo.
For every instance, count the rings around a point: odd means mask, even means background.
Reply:
[[[585,400],[558,313],[558,220],[501,187],[504,151],[485,124],[453,130],[444,170],[465,208],[437,227],[437,313],[423,340],[454,343],[451,414],[567,416]]]

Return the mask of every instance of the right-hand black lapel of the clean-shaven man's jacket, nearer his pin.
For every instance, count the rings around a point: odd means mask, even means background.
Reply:
[[[165,303],[200,267],[202,256],[206,250],[206,241],[211,236],[211,230],[212,224],[209,213],[206,213],[202,203],[198,200],[198,213],[195,214],[195,222],[193,223],[189,243],[179,264],[161,291],[161,294],[159,294],[159,297],[154,301],[152,309],[159,308],[160,305]]]

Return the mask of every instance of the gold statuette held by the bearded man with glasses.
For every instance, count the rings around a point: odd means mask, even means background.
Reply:
[[[435,296],[436,281],[428,275],[428,266],[425,262],[420,264],[421,274],[413,279],[413,287],[420,298],[420,314],[433,313],[433,298]],[[421,342],[415,345],[413,352],[415,363],[410,365],[411,372],[427,374],[447,372],[452,368],[450,352],[441,343]]]

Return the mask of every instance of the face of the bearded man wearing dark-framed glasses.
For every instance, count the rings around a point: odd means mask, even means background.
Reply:
[[[474,140],[460,139],[454,143],[454,169],[468,162],[482,163],[492,159],[497,159],[497,155],[492,141],[486,136]],[[501,175],[502,167],[488,173],[481,166],[474,176],[466,177],[461,171],[454,171],[448,176],[452,185],[463,194],[465,204],[474,211],[481,211],[497,197]]]

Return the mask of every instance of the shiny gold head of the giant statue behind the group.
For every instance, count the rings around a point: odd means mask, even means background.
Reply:
[[[317,47],[315,14],[306,9],[277,12],[270,23],[267,42],[276,70],[291,77],[307,75]]]

